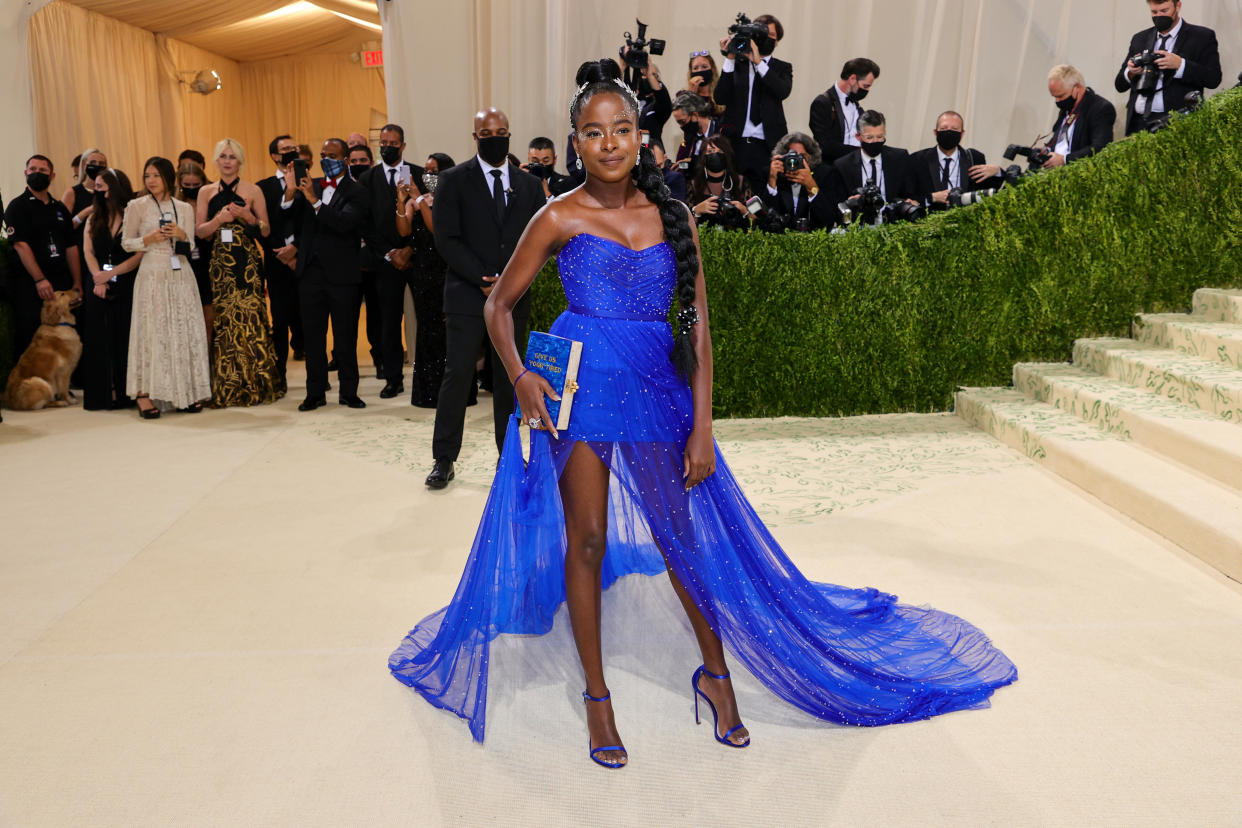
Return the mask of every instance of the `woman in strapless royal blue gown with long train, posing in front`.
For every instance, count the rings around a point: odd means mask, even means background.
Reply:
[[[586,690],[589,755],[627,754],[604,677],[601,591],[667,571],[703,655],[691,677],[715,739],[745,747],[725,648],[790,704],[874,726],[981,708],[1013,664],[955,616],[873,588],[809,581],[763,525],[712,438],[712,341],[698,235],[640,145],[637,101],[615,61],[585,63],[570,104],[586,182],[527,227],[486,317],[520,406],[452,602],[415,627],[389,668],[483,740],[488,646],[544,633],[568,603]],[[523,370],[512,310],[555,254],[569,309],[551,331],[582,343],[565,431],[543,377]],[[668,309],[679,303],[678,331]],[[532,427],[524,459],[518,423]]]

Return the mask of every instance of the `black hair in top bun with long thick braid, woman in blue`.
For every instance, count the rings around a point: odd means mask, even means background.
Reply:
[[[586,102],[600,93],[620,94],[626,103],[638,113],[638,98],[630,87],[621,82],[621,67],[612,58],[587,61],[578,70],[575,78],[578,93],[569,104],[569,120],[578,129],[578,118]],[[677,329],[673,331],[673,351],[669,359],[677,372],[689,382],[698,358],[691,341],[691,331],[698,324],[698,309],[694,307],[694,284],[698,279],[699,257],[694,245],[694,231],[691,227],[689,211],[674,199],[664,184],[664,173],[656,164],[656,156],[643,146],[638,151],[638,164],[633,168],[633,182],[638,190],[660,209],[660,220],[664,225],[664,241],[673,248],[677,258]]]

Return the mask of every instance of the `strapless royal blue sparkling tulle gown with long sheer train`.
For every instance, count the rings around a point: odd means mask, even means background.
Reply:
[[[773,693],[846,725],[887,725],[987,705],[1017,679],[968,622],[877,590],[809,581],[750,506],[717,448],[715,473],[684,490],[691,390],[669,362],[673,251],[591,235],[558,256],[569,310],[551,333],[581,341],[569,428],[532,434],[518,415],[452,602],[389,658],[397,680],[469,722],[483,741],[488,647],[501,633],[551,629],[565,601],[558,478],[578,442],[612,474],[604,587],[667,566],[737,660]]]

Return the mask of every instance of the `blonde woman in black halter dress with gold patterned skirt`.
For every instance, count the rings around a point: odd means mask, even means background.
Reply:
[[[199,192],[197,235],[212,238],[211,405],[253,406],[284,396],[263,294],[258,236],[270,231],[267,205],[255,184],[242,181],[246,154],[225,138],[216,144],[220,180]]]

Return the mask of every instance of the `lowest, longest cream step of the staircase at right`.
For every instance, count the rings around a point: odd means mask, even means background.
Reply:
[[[1242,581],[1242,497],[1016,389],[961,389],[956,412]]]

